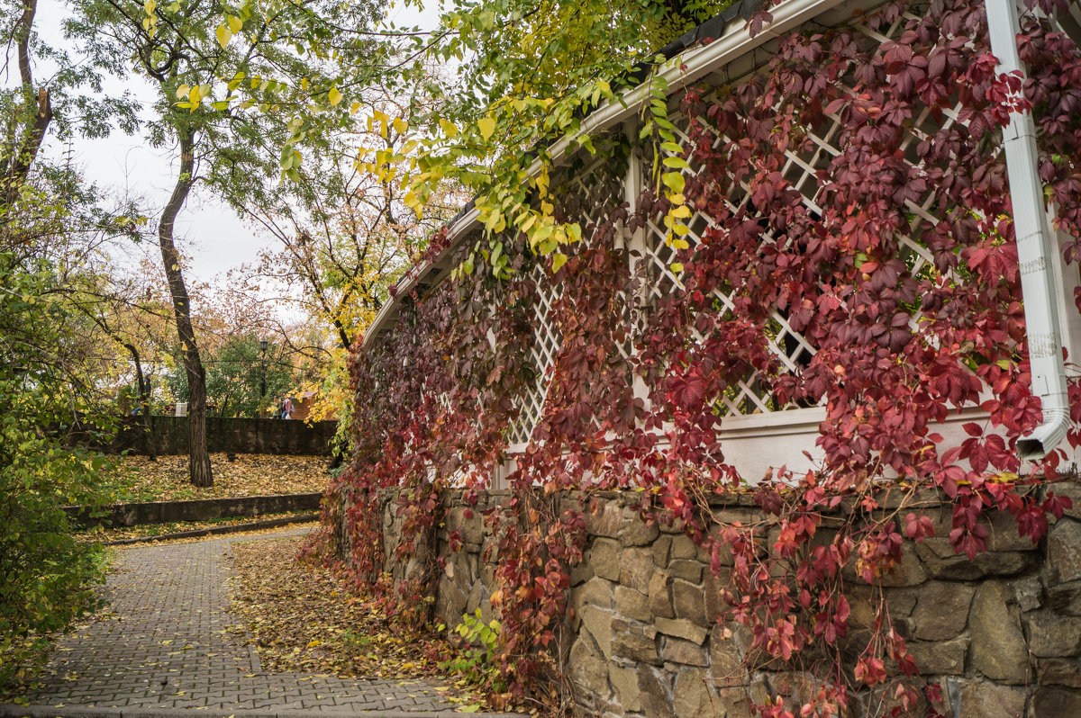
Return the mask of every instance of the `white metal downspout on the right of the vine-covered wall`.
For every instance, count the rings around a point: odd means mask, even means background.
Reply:
[[[1025,68],[1017,54],[1017,5],[1015,0],[986,0],[991,52],[999,58],[998,72]],[[1036,124],[1030,112],[1012,112],[1002,130],[1013,204],[1017,261],[1025,302],[1028,358],[1032,370],[1032,393],[1040,397],[1043,423],[1017,441],[1022,459],[1042,459],[1066,437],[1070,405],[1066,393],[1063,335],[1056,309],[1056,286],[1052,262],[1056,244],[1051,240],[1043,206],[1043,184],[1037,173]]]

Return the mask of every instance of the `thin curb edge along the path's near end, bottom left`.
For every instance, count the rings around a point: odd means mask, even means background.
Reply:
[[[462,718],[462,716],[483,716],[485,718],[523,718],[523,713],[473,713],[456,710],[224,710],[221,708],[92,708],[88,706],[0,704],[0,718],[318,718],[334,716],[383,716],[384,718]]]

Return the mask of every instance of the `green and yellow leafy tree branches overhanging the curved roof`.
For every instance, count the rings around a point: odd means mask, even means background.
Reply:
[[[560,247],[580,239],[583,228],[552,214],[547,147],[568,137],[569,152],[596,154],[593,138],[579,135],[582,118],[602,103],[624,101],[622,91],[639,85],[666,62],[662,49],[731,4],[733,0],[451,2],[438,30],[413,40],[414,60],[399,72],[406,82],[426,60],[459,60],[445,91],[450,101],[428,117],[414,117],[421,122],[411,124],[403,143],[414,157],[408,177],[399,171],[404,151],[371,158],[365,168],[381,178],[397,176],[409,188],[403,201],[417,213],[448,178],[468,188],[490,232],[478,248],[498,257],[501,274],[509,272],[512,257],[495,250],[499,242],[494,234],[506,227],[523,231],[528,250],[552,255],[558,269],[566,259]],[[654,73],[644,84],[650,92],[640,132],[653,135],[658,146],[675,144],[675,133],[665,126],[664,78]],[[660,173],[658,167],[658,185]],[[676,221],[685,207],[678,201],[672,207]]]

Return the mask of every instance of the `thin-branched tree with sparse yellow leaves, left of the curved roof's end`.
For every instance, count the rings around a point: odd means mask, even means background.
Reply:
[[[326,138],[320,165],[305,163],[296,179],[270,189],[275,201],[244,208],[280,243],[262,253],[257,275],[292,289],[286,298],[324,322],[345,351],[374,319],[390,285],[421,256],[428,238],[469,199],[446,182],[417,218],[402,202],[398,181],[363,172],[358,157],[395,152],[404,144],[406,125],[391,118],[408,113],[411,105],[430,110],[439,104],[396,99],[379,89],[364,95],[352,107],[355,125]]]

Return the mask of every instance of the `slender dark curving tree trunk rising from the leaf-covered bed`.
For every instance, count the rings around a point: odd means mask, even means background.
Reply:
[[[191,326],[191,304],[188,288],[184,284],[181,255],[173,242],[173,221],[184,206],[191,191],[195,172],[195,132],[188,127],[177,128],[181,140],[181,174],[176,178],[173,195],[161,213],[158,223],[158,243],[161,245],[161,261],[165,265],[169,293],[173,299],[173,314],[176,319],[176,335],[184,352],[184,372],[188,378],[188,466],[193,486],[214,486],[206,452],[206,375],[199,358],[195,328]]]

